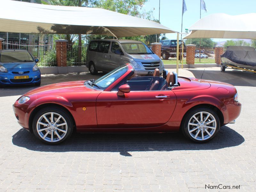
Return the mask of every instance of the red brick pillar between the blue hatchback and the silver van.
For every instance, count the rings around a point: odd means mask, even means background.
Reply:
[[[67,40],[56,40],[56,60],[58,67],[67,67]]]

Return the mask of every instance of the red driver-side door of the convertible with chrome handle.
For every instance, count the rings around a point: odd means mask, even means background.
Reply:
[[[131,91],[124,97],[117,91],[103,91],[96,101],[98,128],[160,126],[170,119],[175,106],[171,90]]]

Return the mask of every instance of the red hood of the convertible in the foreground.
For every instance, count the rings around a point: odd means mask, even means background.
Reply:
[[[84,81],[70,81],[63,83],[55,83],[50,85],[45,85],[38,87],[27,92],[27,95],[40,95],[40,94],[52,94],[52,93],[61,93],[61,92],[85,92],[85,91],[100,91],[90,89],[84,86]]]

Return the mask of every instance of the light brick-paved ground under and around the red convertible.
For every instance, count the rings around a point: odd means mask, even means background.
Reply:
[[[201,77],[202,69],[190,69]],[[82,74],[44,80],[86,79]],[[52,79],[51,79],[52,78]],[[12,112],[18,95],[33,87],[0,89],[0,191],[208,191],[205,185],[240,185],[255,191],[256,74],[206,68],[203,78],[233,83],[242,113],[206,144],[178,133],[78,134],[48,146],[20,128]]]

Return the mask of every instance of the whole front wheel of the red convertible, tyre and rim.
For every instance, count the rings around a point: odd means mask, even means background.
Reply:
[[[33,132],[46,144],[59,144],[73,131],[71,116],[61,108],[43,108],[34,117]]]

